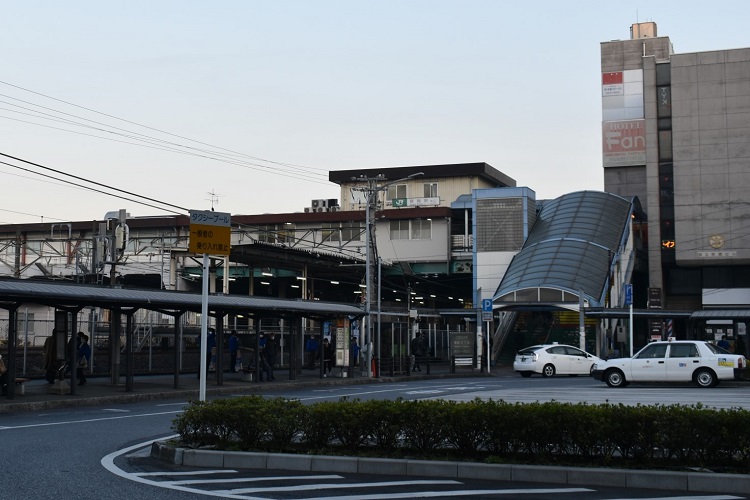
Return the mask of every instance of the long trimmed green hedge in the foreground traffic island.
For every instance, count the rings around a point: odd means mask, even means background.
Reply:
[[[700,404],[243,396],[191,402],[172,428],[188,447],[750,471],[750,411]]]

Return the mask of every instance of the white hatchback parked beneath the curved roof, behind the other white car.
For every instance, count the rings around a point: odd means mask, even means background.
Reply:
[[[525,347],[516,353],[513,369],[522,377],[541,373],[553,375],[589,375],[595,363],[602,360],[577,347],[563,344],[544,344]]]

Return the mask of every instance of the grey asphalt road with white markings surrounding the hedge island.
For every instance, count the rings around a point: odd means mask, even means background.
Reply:
[[[516,376],[420,380],[392,384],[341,385],[320,389],[280,389],[270,394],[304,402],[348,398],[506,401],[588,401],[624,404],[695,404],[750,408],[750,386],[723,383],[714,389],[692,386],[631,385],[609,389],[588,377],[543,379]],[[685,495],[684,492],[602,488],[570,490],[567,485],[495,482],[436,483],[425,478],[299,478],[269,471],[210,472],[176,468],[148,457],[149,443],[172,434],[172,419],[185,401],[150,401],[43,413],[0,415],[0,499],[192,499],[222,498],[741,498]],[[222,475],[224,474],[224,475]],[[229,475],[227,475],[229,474]],[[308,474],[303,474],[309,476]],[[234,480],[227,482],[226,479]],[[263,479],[271,476],[271,479]],[[323,474],[322,476],[326,476]],[[223,481],[216,481],[223,479]],[[211,481],[209,481],[211,480]],[[183,484],[174,484],[183,481]],[[192,483],[184,483],[192,481]],[[237,486],[239,482],[240,486]],[[385,484],[388,483],[388,484]],[[392,483],[392,484],[391,484]],[[362,487],[361,485],[369,485]],[[271,488],[271,489],[268,489]],[[568,488],[568,489],[566,489]],[[240,489],[244,493],[235,490]],[[585,491],[584,491],[585,490]]]

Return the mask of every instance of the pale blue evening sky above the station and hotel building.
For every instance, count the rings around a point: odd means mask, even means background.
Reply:
[[[750,47],[746,0],[0,5],[2,224],[300,212],[331,170],[411,165],[602,190],[601,42]]]

